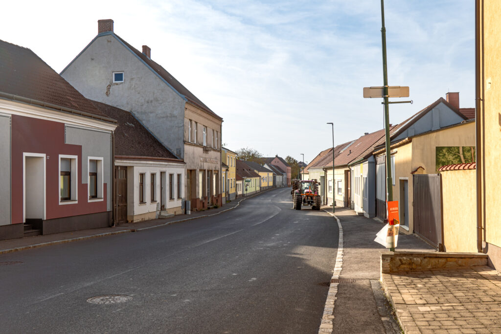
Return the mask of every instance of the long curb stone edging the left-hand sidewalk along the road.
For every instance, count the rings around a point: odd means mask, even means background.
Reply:
[[[67,242],[72,242],[72,241],[86,240],[86,239],[92,239],[92,238],[99,238],[99,237],[108,236],[108,235],[114,235],[114,234],[122,234],[122,233],[136,232],[136,231],[144,231],[144,230],[148,230],[150,228],[161,227],[161,226],[166,226],[166,225],[175,224],[175,223],[181,223],[181,222],[184,222],[184,221],[198,219],[198,218],[215,216],[216,214],[220,214],[222,212],[233,210],[238,205],[240,205],[240,202],[242,202],[243,200],[246,200],[247,198],[252,198],[254,196],[263,194],[263,193],[265,193],[267,191],[270,191],[270,190],[273,190],[273,189],[280,189],[280,188],[267,189],[267,190],[261,191],[261,192],[259,192],[257,194],[254,194],[254,195],[251,195],[251,196],[248,196],[248,197],[244,197],[244,198],[240,199],[235,206],[233,206],[231,208],[227,208],[225,210],[221,210],[221,211],[216,212],[216,213],[212,213],[212,214],[207,214],[207,215],[198,216],[198,217],[191,217],[191,218],[185,218],[185,219],[180,219],[180,220],[169,221],[169,222],[166,222],[166,223],[163,223],[163,224],[154,225],[154,226],[148,226],[148,227],[143,227],[143,228],[126,228],[126,229],[123,229],[123,230],[120,230],[120,231],[99,233],[99,234],[94,234],[94,235],[86,235],[86,236],[81,236],[81,237],[76,237],[76,238],[71,238],[71,239],[64,239],[64,240],[47,241],[47,242],[41,242],[41,243],[36,243],[36,244],[33,244],[33,245],[22,246],[22,247],[15,247],[15,248],[10,248],[10,249],[0,249],[0,254],[7,254],[7,253],[17,252],[17,251],[21,251],[21,250],[28,250],[28,249],[33,249],[33,248],[38,248],[38,247],[44,247],[44,246],[50,246],[50,245],[57,245],[57,244],[67,243]]]

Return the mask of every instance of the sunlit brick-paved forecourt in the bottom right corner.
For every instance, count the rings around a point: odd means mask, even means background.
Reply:
[[[501,273],[488,266],[382,278],[406,334],[501,333]]]

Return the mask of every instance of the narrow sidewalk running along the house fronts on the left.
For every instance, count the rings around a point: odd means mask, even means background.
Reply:
[[[150,228],[188,221],[192,219],[207,217],[219,214],[224,211],[232,210],[235,207],[237,207],[242,200],[245,200],[247,198],[252,198],[266,191],[267,190],[247,197],[234,199],[231,202],[226,203],[221,207],[218,207],[217,209],[209,209],[205,211],[196,211],[196,212],[191,211],[191,214],[189,215],[183,214],[183,215],[176,215],[167,219],[152,219],[137,223],[125,223],[115,227],[95,228],[89,230],[62,232],[48,235],[36,235],[19,239],[2,240],[0,241],[0,254],[43,247],[48,245],[60,244],[65,242],[72,242],[77,240],[85,240],[89,238],[97,238],[113,234],[141,231]]]

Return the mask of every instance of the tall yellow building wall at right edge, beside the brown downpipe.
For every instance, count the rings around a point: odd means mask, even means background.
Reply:
[[[501,247],[501,182],[499,181],[499,161],[501,161],[501,6],[498,0],[481,0],[483,33],[480,59],[480,131],[483,166],[481,167],[483,186],[483,210],[485,216],[485,241]],[[483,45],[482,45],[483,42]],[[483,93],[483,94],[482,94]],[[499,254],[497,261],[501,261]],[[501,263],[501,262],[498,262]]]

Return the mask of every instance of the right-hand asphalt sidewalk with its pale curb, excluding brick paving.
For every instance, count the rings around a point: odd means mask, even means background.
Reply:
[[[322,209],[332,214],[332,207]],[[379,283],[380,254],[387,249],[374,238],[384,224],[359,216],[348,208],[335,207],[335,211],[343,232],[342,242],[340,240],[343,249],[341,254],[338,250],[339,261],[336,259],[319,333],[399,333]],[[432,250],[413,235],[399,235],[398,249]]]

